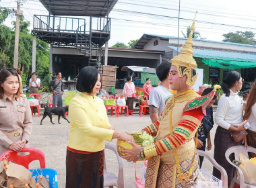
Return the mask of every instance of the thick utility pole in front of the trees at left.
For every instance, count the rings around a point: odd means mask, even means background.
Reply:
[[[15,26],[15,43],[14,43],[14,61],[13,68],[18,68],[19,58],[19,37],[20,37],[20,4],[21,0],[17,1],[16,26]]]

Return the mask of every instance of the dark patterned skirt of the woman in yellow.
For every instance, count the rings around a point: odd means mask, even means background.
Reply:
[[[66,188],[102,188],[103,164],[103,151],[84,154],[67,149]]]

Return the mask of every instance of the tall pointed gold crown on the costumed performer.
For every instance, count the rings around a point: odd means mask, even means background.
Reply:
[[[197,16],[197,11],[195,13],[195,17]],[[190,34],[189,38],[187,38],[187,41],[185,42],[185,46],[181,48],[181,54],[174,56],[170,61],[172,62],[172,65],[177,66],[179,77],[183,77],[184,75],[187,75],[187,85],[194,85],[195,81],[197,80],[197,75],[191,77],[191,68],[195,69],[197,67],[197,62],[195,62],[195,59],[193,58],[193,48],[192,48],[192,36],[193,32],[195,30],[195,19],[192,23],[192,26],[190,28]],[[185,70],[182,71],[182,67],[185,66]]]

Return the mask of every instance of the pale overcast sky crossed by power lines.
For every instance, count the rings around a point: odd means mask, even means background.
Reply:
[[[48,15],[39,0],[26,0],[22,4],[24,17],[31,25],[34,14]],[[12,9],[17,3],[15,0],[1,0],[0,6]],[[179,36],[183,37],[181,31],[185,33],[191,26],[195,11],[198,11],[195,28],[201,38],[221,41],[222,34],[237,30],[256,34],[255,7],[255,0],[181,0]],[[112,18],[109,46],[116,42],[127,44],[143,34],[178,36],[179,1],[119,0],[109,17]],[[13,14],[5,24],[11,26],[11,21],[15,21]]]

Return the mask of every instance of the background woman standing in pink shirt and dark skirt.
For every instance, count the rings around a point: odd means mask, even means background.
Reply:
[[[132,77],[127,77],[127,82],[123,87],[123,94],[125,95],[126,105],[128,106],[130,115],[133,115],[133,93],[136,93],[135,85],[132,81]]]

